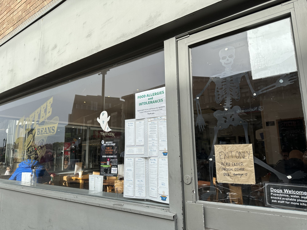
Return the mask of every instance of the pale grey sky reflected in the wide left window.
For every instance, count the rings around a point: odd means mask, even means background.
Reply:
[[[57,131],[56,135],[49,136],[47,142],[62,142],[64,126],[68,123],[68,114],[72,113],[75,95],[97,96],[102,94],[102,75],[99,75],[99,73],[100,71],[82,79],[70,81],[14,102],[1,105],[0,117],[7,117],[14,120],[19,120],[23,116],[25,118],[29,117],[31,113],[53,96],[53,102],[51,104],[52,114],[48,120],[58,116],[62,128],[59,127],[60,131]],[[120,98],[163,84],[165,84],[164,52],[161,51],[110,68],[110,71],[107,71],[105,77],[105,96]],[[7,121],[0,118],[0,135],[2,135],[2,131],[5,131],[5,127],[7,128]],[[5,129],[3,130],[2,128]],[[6,135],[6,133],[3,135]]]

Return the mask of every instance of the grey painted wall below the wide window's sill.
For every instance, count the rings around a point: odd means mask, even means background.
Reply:
[[[14,212],[12,212],[14,210]],[[1,229],[175,229],[176,221],[0,189]]]

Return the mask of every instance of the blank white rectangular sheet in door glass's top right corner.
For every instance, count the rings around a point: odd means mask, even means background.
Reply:
[[[249,30],[247,37],[253,79],[297,70],[290,18]]]

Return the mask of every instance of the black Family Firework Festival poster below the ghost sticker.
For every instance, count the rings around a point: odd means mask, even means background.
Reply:
[[[100,175],[116,176],[119,140],[105,139],[100,148]]]

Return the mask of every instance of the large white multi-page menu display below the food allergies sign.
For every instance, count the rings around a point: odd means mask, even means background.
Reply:
[[[169,204],[166,117],[130,119],[125,127],[134,137],[125,142],[124,197]]]

